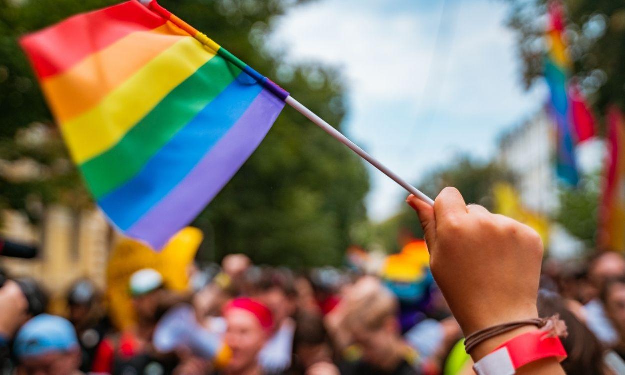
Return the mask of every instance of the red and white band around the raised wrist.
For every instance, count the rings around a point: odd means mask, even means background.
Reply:
[[[473,366],[477,375],[512,375],[517,369],[540,359],[566,359],[560,338],[550,332],[537,330],[514,337]]]

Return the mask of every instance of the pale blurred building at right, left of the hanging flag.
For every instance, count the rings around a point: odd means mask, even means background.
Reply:
[[[554,137],[552,121],[546,111],[542,110],[504,134],[499,141],[497,154],[497,162],[516,175],[515,187],[523,206],[547,217],[556,214],[559,203]],[[578,153],[580,164],[589,164],[587,159],[597,159],[596,151],[591,150],[590,154],[589,157]],[[584,169],[584,165],[581,165],[581,169]],[[582,242],[577,241],[561,226],[550,226],[551,256],[568,258],[581,254],[583,250]]]

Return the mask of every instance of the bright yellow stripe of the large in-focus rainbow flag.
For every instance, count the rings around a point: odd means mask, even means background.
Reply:
[[[117,144],[176,86],[215,56],[192,37],[184,38],[109,94],[96,108],[61,124],[77,164]]]

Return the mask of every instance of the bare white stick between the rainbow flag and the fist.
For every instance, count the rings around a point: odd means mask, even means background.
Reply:
[[[323,129],[327,134],[330,134],[332,137],[336,138],[340,143],[344,144],[349,149],[354,151],[354,153],[358,154],[358,156],[360,156],[362,159],[365,159],[367,162],[369,162],[369,164],[377,168],[380,172],[386,174],[386,176],[389,176],[389,178],[392,179],[392,181],[395,181],[397,184],[399,184],[399,186],[406,189],[406,191],[408,191],[410,194],[416,196],[417,198],[426,202],[430,206],[434,206],[434,201],[432,201],[430,197],[426,196],[426,194],[423,194],[421,191],[419,191],[419,189],[407,183],[401,177],[397,176],[397,174],[391,171],[391,169],[386,168],[384,164],[380,163],[379,161],[377,161],[376,158],[367,154],[366,151],[359,148],[357,144],[350,141],[349,138],[341,134],[341,132],[332,128],[330,124],[326,123],[326,121],[324,121],[322,118],[314,114],[310,109],[306,108],[303,104],[299,103],[298,101],[293,99],[291,96],[286,98],[285,102],[286,104],[289,104],[289,106],[291,106],[297,112],[306,116],[307,119],[309,119],[310,121],[312,121],[312,123],[319,126],[319,128]]]

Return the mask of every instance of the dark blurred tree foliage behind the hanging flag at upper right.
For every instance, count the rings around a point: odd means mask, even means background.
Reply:
[[[529,88],[542,76],[548,0],[507,0],[509,26],[517,33],[523,80]],[[625,108],[625,5],[613,0],[566,0],[567,49],[572,73],[591,97],[597,114],[610,104]]]

